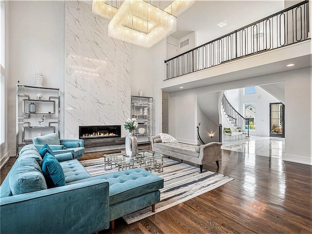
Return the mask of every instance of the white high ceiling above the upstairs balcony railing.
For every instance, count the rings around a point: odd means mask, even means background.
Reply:
[[[177,32],[171,36],[181,39],[195,31],[200,45],[283,9],[284,0],[196,0],[177,17]],[[227,25],[221,28],[221,22]]]

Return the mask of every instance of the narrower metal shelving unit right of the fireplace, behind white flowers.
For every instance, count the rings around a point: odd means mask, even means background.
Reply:
[[[153,98],[131,96],[131,117],[136,118],[138,122],[135,132],[137,143],[149,143],[150,137],[153,136]]]

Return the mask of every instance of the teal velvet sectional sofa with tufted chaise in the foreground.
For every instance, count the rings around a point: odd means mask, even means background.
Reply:
[[[1,234],[96,233],[160,200],[163,178],[141,168],[92,177],[71,153],[55,158],[65,184],[47,188],[38,150],[22,148],[0,186]]]

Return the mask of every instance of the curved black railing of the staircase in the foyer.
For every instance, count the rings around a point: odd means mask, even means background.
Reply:
[[[247,134],[247,137],[249,137],[249,118],[245,118],[242,115],[240,115],[234,107],[231,105],[231,103],[228,101],[228,99],[223,94],[222,97],[222,106],[225,114],[228,116],[230,121],[234,124],[238,130],[242,131],[243,134]]]

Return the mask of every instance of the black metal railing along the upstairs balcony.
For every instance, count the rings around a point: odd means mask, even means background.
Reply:
[[[165,60],[165,80],[306,40],[308,32],[309,1],[305,0]]]

